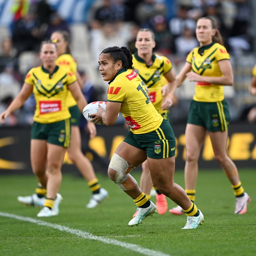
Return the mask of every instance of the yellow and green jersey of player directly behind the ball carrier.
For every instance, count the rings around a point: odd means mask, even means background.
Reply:
[[[161,105],[163,101],[162,86],[166,85],[165,73],[172,69],[171,62],[165,56],[157,54],[152,55],[153,64],[147,66],[145,61],[138,56],[137,53],[133,54],[133,70],[140,76],[142,81],[148,87],[149,99],[154,107],[160,114],[168,113],[169,110],[162,110]]]

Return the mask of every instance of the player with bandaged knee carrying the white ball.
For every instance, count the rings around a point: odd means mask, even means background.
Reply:
[[[99,56],[100,73],[109,81],[106,110],[100,108],[92,121],[114,125],[121,112],[130,127],[124,141],[116,148],[109,163],[108,175],[137,205],[138,213],[129,226],[142,223],[156,213],[156,205],[141,191],[130,172],[146,160],[153,184],[180,205],[187,223],[183,229],[197,228],[203,214],[191,202],[182,187],[174,183],[176,141],[171,125],[157,112],[148,98],[147,87],[132,70],[132,55],[126,47],[109,47]],[[169,104],[164,100],[163,104]]]

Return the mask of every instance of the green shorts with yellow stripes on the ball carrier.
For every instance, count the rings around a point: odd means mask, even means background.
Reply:
[[[149,158],[161,159],[175,155],[175,136],[171,125],[165,119],[153,132],[134,134],[130,131],[124,142],[146,151]]]

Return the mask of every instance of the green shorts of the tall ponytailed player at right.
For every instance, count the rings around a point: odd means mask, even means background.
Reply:
[[[189,107],[187,123],[204,126],[209,132],[227,131],[230,114],[226,100],[218,102],[193,100]]]

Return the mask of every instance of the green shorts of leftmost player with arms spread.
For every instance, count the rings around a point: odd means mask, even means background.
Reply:
[[[70,119],[51,124],[34,122],[31,128],[31,139],[46,140],[48,143],[68,148],[70,145]]]

